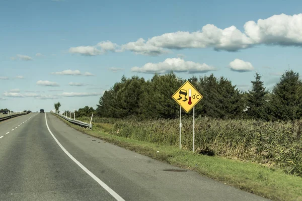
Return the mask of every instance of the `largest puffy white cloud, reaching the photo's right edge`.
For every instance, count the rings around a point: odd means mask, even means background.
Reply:
[[[146,44],[169,49],[206,48],[237,51],[256,44],[302,46],[302,14],[274,15],[257,23],[249,21],[244,33],[235,26],[219,29],[205,25],[197,32],[174,32],[149,39]]]

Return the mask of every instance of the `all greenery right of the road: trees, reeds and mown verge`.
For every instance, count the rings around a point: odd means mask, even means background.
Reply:
[[[171,96],[186,80],[173,72],[150,80],[123,76],[100,97],[96,110],[79,109],[76,119],[89,122],[94,113],[94,129],[86,131],[91,135],[275,200],[301,200],[299,74],[284,71],[272,90],[258,72],[250,91],[213,74],[188,80],[203,95],[195,107],[196,153],[191,151],[192,112],[182,113],[178,148],[179,106]],[[159,147],[162,159],[154,155]]]

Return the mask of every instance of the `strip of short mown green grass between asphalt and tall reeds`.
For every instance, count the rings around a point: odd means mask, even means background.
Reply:
[[[302,201],[302,178],[259,164],[204,156],[173,146],[161,146],[105,133],[110,125],[87,130],[59,118],[70,127],[145,156],[188,168],[228,185],[272,199]],[[157,152],[159,151],[159,152]]]

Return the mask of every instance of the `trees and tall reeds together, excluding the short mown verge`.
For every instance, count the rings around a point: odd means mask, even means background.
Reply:
[[[179,146],[179,106],[172,94],[185,82],[174,73],[151,80],[122,77],[100,98],[97,110],[79,109],[77,119],[121,137]],[[251,91],[242,92],[223,77],[191,77],[204,96],[195,108],[198,152],[282,169],[302,176],[302,82],[286,70],[272,91],[255,74]],[[85,119],[87,118],[87,119]],[[192,112],[183,113],[182,148],[192,149]],[[102,125],[98,125],[101,123]],[[110,129],[109,129],[110,125]]]

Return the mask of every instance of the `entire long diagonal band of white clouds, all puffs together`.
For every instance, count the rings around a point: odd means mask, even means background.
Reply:
[[[302,14],[292,16],[280,14],[267,19],[259,19],[257,22],[248,21],[243,26],[243,32],[235,26],[221,29],[207,24],[195,32],[165,33],[148,40],[139,38],[135,42],[121,45],[120,50],[117,50],[118,45],[106,41],[96,46],[70,48],[69,52],[95,56],[108,50],[113,52],[129,50],[135,54],[156,56],[169,53],[167,49],[213,48],[217,51],[232,52],[260,44],[302,47],[301,33]]]

